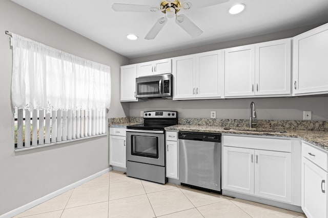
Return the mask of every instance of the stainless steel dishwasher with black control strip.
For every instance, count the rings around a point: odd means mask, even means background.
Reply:
[[[221,134],[179,132],[181,185],[221,193]]]

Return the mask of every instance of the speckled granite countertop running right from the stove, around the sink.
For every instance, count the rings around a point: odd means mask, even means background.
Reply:
[[[328,152],[328,131],[287,129],[279,130],[262,128],[249,129],[244,127],[219,127],[200,125],[175,125],[171,127],[166,127],[165,130],[300,138],[304,141],[314,144],[321,150]]]

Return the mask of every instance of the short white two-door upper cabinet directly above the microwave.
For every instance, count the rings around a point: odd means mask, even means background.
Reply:
[[[171,58],[137,64],[137,77],[171,74]]]

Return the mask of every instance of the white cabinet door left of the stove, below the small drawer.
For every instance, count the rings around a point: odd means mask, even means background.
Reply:
[[[122,168],[127,167],[126,137],[109,136],[109,164]]]

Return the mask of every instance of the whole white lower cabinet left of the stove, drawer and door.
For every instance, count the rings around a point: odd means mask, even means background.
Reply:
[[[126,130],[110,128],[109,135],[109,164],[121,168],[127,167]]]

